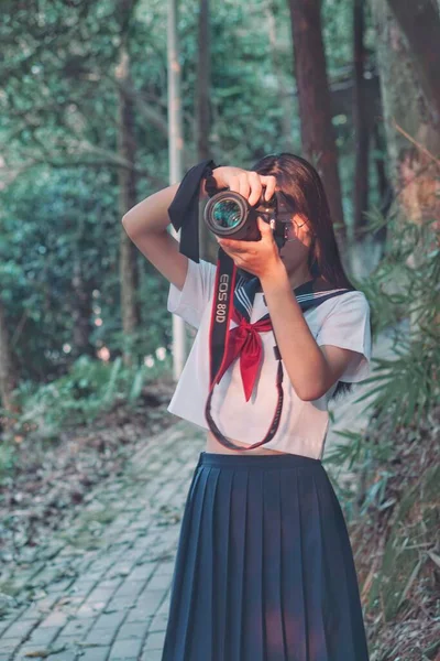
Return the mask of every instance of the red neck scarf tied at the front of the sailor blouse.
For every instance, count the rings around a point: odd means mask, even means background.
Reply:
[[[264,321],[258,319],[255,324],[250,324],[237,308],[233,310],[232,318],[239,325],[229,330],[228,353],[223,359],[223,365],[216,383],[220,383],[222,376],[231,362],[240,356],[240,372],[243,381],[244,397],[248,402],[254,389],[262,359],[260,333],[272,330],[272,322],[267,318]]]

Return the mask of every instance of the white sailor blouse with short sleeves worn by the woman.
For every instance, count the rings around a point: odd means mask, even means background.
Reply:
[[[176,390],[167,410],[184,420],[209,430],[205,405],[209,393],[209,329],[217,267],[208,261],[188,259],[188,272],[183,290],[169,285],[168,312],[197,329],[196,337]],[[267,314],[263,292],[255,294],[251,323]],[[356,382],[371,372],[372,337],[370,305],[360,291],[349,291],[304,311],[304,317],[319,346],[334,345],[356,351],[341,381]],[[235,326],[231,319],[230,328]],[[220,432],[230,438],[252,445],[263,438],[273,419],[277,402],[272,330],[261,333],[263,360],[252,395],[246,401],[239,360],[215,386],[211,414]],[[283,362],[284,373],[287,375]],[[274,437],[262,447],[322,459],[329,427],[328,402],[334,383],[317,400],[298,398],[288,379],[283,380],[283,411]]]

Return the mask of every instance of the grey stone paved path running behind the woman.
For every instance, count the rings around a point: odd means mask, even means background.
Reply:
[[[373,355],[386,350],[381,338]],[[362,388],[339,405],[332,430],[366,424],[351,403]],[[326,451],[336,440],[331,431]],[[74,524],[14,567],[0,661],[160,661],[180,518],[204,447],[205,432],[184,421],[150,438]]]

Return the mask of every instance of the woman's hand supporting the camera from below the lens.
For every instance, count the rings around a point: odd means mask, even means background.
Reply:
[[[237,241],[215,236],[217,242],[233,259],[237,267],[264,280],[279,269],[283,261],[279,258],[279,249],[275,243],[271,226],[260,216],[257,216],[256,223],[262,235],[260,241]]]

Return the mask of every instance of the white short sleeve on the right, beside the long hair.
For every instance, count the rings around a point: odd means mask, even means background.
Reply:
[[[371,373],[372,337],[370,304],[363,292],[353,291],[337,297],[319,329],[317,344],[358,351],[360,355],[352,358],[340,381],[366,379]]]

